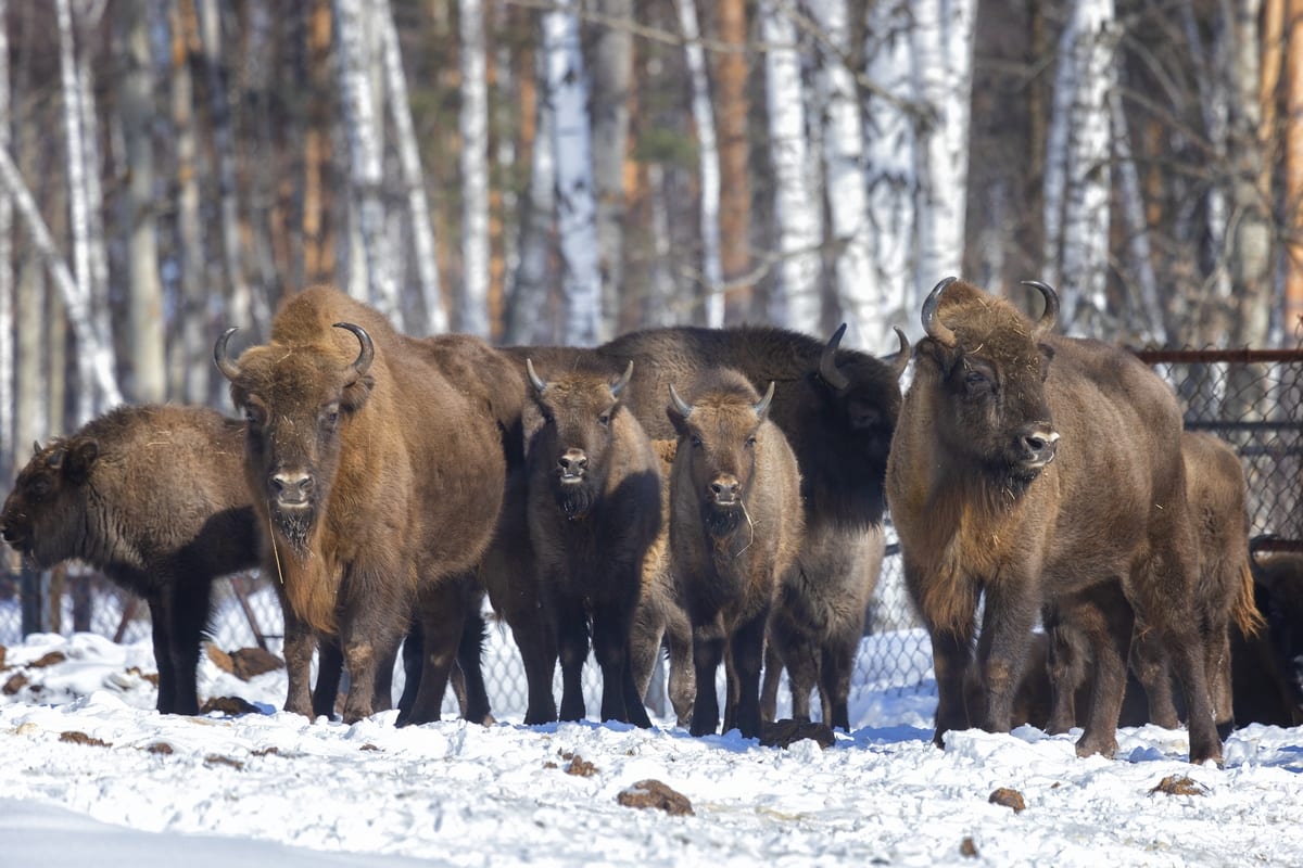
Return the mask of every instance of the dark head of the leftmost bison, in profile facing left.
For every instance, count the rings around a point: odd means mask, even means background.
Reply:
[[[65,535],[85,524],[86,483],[99,458],[99,442],[77,436],[34,445],[0,513],[0,532],[38,566],[53,566],[72,550]]]

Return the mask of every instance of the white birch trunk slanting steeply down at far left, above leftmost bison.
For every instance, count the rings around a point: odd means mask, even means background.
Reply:
[[[27,190],[22,177],[18,174],[18,167],[13,164],[9,151],[3,148],[0,148],[0,189],[4,189],[12,197],[18,215],[27,226],[33,246],[39,251],[51,278],[55,281],[55,286],[64,299],[64,305],[68,308],[68,321],[79,345],[78,351],[89,359],[91,379],[87,385],[94,385],[99,389],[106,406],[121,403],[122,392],[117,387],[113,349],[108,341],[108,336],[100,336],[93,328],[90,297],[77,285],[77,278],[60,255],[53,236],[50,234],[50,226],[46,225],[40,211],[36,208],[35,199],[31,198],[31,191]]]

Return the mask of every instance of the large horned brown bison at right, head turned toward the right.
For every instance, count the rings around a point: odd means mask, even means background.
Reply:
[[[1191,698],[1191,761],[1220,761],[1175,396],[1130,353],[1053,334],[1058,298],[1033,285],[1046,303],[1037,323],[955,278],[933,289],[891,444],[887,498],[932,636],[934,739],[971,722],[1009,731],[1044,606],[1084,631],[1095,658],[1078,753],[1111,755],[1134,610]],[[1110,582],[1130,609],[1092,599]],[[984,703],[969,720],[963,682],[979,596]]]

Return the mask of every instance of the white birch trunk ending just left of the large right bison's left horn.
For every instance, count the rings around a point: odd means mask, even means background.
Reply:
[[[911,21],[908,0],[885,0],[869,10],[865,73],[883,92],[911,92]],[[902,107],[882,95],[869,98],[865,118],[873,280],[863,288],[860,298],[863,305],[883,312],[883,324],[916,337],[923,333],[919,325],[923,298],[915,286],[913,129]]]

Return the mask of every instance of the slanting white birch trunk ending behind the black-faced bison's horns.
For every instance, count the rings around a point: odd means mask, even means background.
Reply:
[[[821,56],[823,163],[829,217],[837,242],[834,281],[842,316],[848,323],[846,345],[887,351],[890,327],[876,298],[870,263],[873,238],[868,221],[868,186],[864,178],[864,125],[855,78],[843,57],[850,53],[850,18],[846,0],[813,0],[810,10],[827,46]],[[833,51],[826,48],[831,47]],[[891,344],[895,344],[893,337]]]

